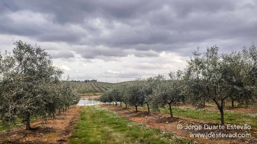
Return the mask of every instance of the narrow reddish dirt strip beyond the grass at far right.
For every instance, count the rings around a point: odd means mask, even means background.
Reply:
[[[190,105],[186,104],[180,104],[179,107],[185,107],[185,108],[193,108]],[[219,110],[217,106],[205,106],[204,109],[209,109],[209,110]],[[224,107],[224,110],[232,110],[236,112],[247,112],[247,113],[257,113],[257,108],[255,107]]]

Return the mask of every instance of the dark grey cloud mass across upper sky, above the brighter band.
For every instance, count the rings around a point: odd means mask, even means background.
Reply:
[[[257,39],[256,1],[0,2],[0,33],[80,45],[83,58],[188,56],[197,46],[240,49]],[[108,58],[107,58],[108,59]]]

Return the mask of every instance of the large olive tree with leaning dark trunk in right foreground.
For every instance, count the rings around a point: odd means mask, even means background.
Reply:
[[[204,54],[193,52],[193,57],[187,61],[185,81],[189,90],[188,99],[197,102],[199,99],[210,99],[217,105],[221,114],[221,124],[224,125],[225,99],[235,91],[244,91],[246,87],[240,86],[248,83],[247,67],[245,67],[240,54],[218,53],[219,47],[207,47]],[[246,69],[246,70],[245,70]]]

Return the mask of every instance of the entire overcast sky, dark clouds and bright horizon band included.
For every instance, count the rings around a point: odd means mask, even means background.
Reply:
[[[182,69],[200,47],[257,40],[257,1],[1,0],[0,49],[36,43],[75,80],[119,82]]]

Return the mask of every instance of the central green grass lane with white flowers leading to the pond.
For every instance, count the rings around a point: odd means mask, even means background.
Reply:
[[[146,127],[100,106],[85,106],[74,126],[70,144],[191,143],[160,129]]]

